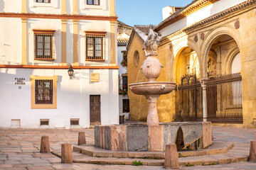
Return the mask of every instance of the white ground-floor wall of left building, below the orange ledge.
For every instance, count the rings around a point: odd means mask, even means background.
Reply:
[[[90,82],[91,72],[100,73],[100,82]],[[30,75],[58,75],[57,108],[31,109]],[[16,77],[26,85],[15,85]],[[75,69],[73,79],[65,69],[0,69],[0,127],[11,128],[11,119],[20,119],[21,128],[40,128],[40,119],[49,119],[49,128],[70,128],[70,118],[79,118],[80,128],[87,128],[90,95],[101,97],[102,125],[118,124],[117,77],[112,69]]]

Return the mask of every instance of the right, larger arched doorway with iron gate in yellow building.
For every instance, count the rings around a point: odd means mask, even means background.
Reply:
[[[242,77],[238,44],[219,35],[210,45],[207,62],[207,120],[242,123]],[[206,68],[206,67],[205,67]]]

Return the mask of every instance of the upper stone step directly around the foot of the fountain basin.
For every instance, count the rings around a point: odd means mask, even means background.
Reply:
[[[210,154],[223,154],[228,152],[234,145],[232,142],[213,142],[208,149],[178,152],[178,157],[197,157]],[[94,145],[75,145],[73,150],[86,154],[90,157],[116,157],[116,158],[142,158],[142,159],[164,159],[164,152],[131,152],[112,151],[95,147]]]

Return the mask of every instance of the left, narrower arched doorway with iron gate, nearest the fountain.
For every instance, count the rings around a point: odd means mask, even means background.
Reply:
[[[183,47],[176,56],[176,121],[202,120],[202,90],[198,55]]]

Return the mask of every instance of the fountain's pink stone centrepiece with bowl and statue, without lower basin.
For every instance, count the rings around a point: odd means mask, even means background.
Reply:
[[[175,89],[176,84],[171,82],[156,82],[163,65],[156,58],[159,38],[152,28],[149,29],[149,36],[144,42],[146,60],[142,64],[142,71],[149,82],[129,84],[129,89],[134,94],[144,95],[149,101],[149,113],[146,119],[147,125],[159,125],[156,101],[161,94],[169,94]]]

